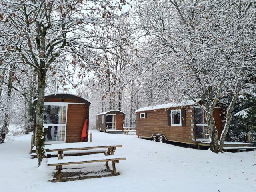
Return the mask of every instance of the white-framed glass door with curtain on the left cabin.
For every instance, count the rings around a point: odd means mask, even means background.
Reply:
[[[67,104],[44,103],[44,126],[48,127],[46,143],[65,141],[67,107]]]

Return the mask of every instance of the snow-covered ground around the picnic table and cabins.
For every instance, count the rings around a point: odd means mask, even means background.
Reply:
[[[127,160],[116,164],[121,175],[86,180],[49,182],[54,167],[37,167],[30,159],[30,135],[16,136],[0,144],[0,191],[46,192],[253,192],[256,191],[256,152],[214,154],[208,150],[182,148],[139,139],[134,135],[93,131],[94,142],[122,143],[116,155]],[[64,157],[65,158],[65,157]],[[104,162],[68,167],[91,170]],[[110,169],[112,165],[110,163]]]

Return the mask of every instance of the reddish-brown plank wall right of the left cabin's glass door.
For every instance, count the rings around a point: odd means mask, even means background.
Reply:
[[[88,106],[68,104],[68,118],[66,128],[66,143],[80,142],[84,121],[88,114]]]

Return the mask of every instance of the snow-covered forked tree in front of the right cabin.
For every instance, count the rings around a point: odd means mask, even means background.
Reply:
[[[158,95],[164,90],[170,100],[200,98],[210,149],[221,152],[238,96],[255,87],[254,2],[139,1],[136,13],[138,37],[145,38],[139,71],[154,70],[148,82]],[[226,107],[220,143],[217,103]]]

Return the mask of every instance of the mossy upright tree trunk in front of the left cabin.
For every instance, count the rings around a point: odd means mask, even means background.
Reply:
[[[36,155],[38,158],[38,166],[40,166],[43,158],[45,156],[44,150],[44,90],[45,90],[45,78],[46,72],[41,70],[38,72],[38,100],[36,105],[36,136],[35,136],[35,144],[36,144]]]

